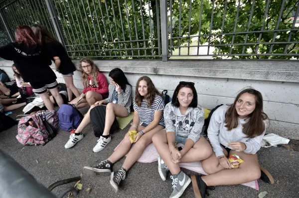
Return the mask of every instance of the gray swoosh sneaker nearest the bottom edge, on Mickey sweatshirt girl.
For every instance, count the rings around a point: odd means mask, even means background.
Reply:
[[[191,183],[191,179],[182,171],[178,175],[170,176],[170,178],[172,179],[172,193],[169,198],[181,197]]]

